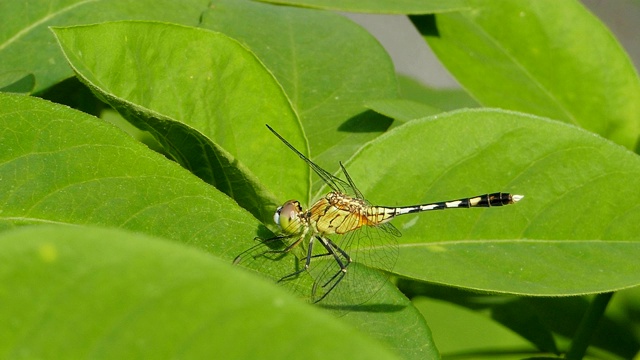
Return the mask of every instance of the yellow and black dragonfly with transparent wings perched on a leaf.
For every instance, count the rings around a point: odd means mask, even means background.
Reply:
[[[267,128],[298,155],[330,191],[308,209],[303,209],[298,200],[289,200],[278,207],[273,220],[280,234],[268,239],[256,238],[259,243],[238,255],[234,263],[258,262],[261,264],[258,267],[272,269],[264,262],[281,260],[297,251],[295,270],[275,277],[279,283],[298,285],[296,281],[309,274],[313,281],[311,291],[303,296],[312,303],[353,306],[373,297],[387,281],[385,274],[392,271],[397,260],[397,238],[401,233],[389,223],[393,218],[423,211],[504,206],[524,197],[497,192],[421,205],[374,206],[365,200],[342,162],[340,171],[345,180],[322,169],[269,125]],[[370,268],[383,272],[372,274]],[[309,290],[304,284],[298,286],[297,292],[305,291]]]

